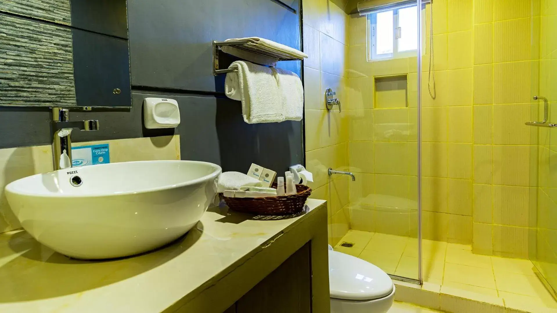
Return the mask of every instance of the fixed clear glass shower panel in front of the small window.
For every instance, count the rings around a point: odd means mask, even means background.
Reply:
[[[356,177],[349,235],[367,243],[352,251],[395,279],[415,282],[418,12],[424,14],[414,3],[393,4],[349,20],[349,165]]]

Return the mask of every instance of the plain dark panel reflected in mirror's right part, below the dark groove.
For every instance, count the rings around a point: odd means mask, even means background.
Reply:
[[[77,105],[130,107],[128,41],[80,29],[72,34]]]

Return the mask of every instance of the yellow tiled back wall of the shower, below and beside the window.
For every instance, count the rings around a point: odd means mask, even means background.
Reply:
[[[554,2],[437,0],[433,34],[430,4],[424,9],[424,238],[473,244],[481,254],[526,258],[533,249],[541,152],[539,130],[524,122],[539,116],[540,104],[531,97],[541,83],[547,86],[545,94],[553,93],[557,100],[555,88],[543,80],[555,71],[540,65],[545,60],[557,69],[551,59],[557,57],[551,53],[557,40],[540,27],[557,26],[551,14],[540,18],[544,6],[557,12]],[[349,184],[352,228],[378,231],[374,225],[385,223],[386,232],[412,236],[412,201],[417,195],[403,178],[416,181],[416,57],[368,62],[367,22],[357,14],[348,18],[348,160],[361,178]],[[544,35],[545,42],[538,43]],[[428,91],[430,36],[434,99]],[[545,59],[540,59],[540,49],[545,49]],[[374,78],[396,75],[407,75],[407,103],[392,97],[389,107],[378,107]],[[399,177],[397,185],[385,185],[399,192],[385,194],[384,182],[378,183],[384,175]],[[515,244],[509,244],[509,236]]]

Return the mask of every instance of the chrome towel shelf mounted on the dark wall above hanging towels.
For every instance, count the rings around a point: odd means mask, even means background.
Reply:
[[[236,39],[229,41],[213,41],[213,75],[236,72],[236,68],[218,68],[218,52],[222,46],[233,46],[234,48],[245,50],[251,53],[260,54],[269,58],[277,59],[277,61],[300,61],[299,57],[289,53],[277,51],[262,44],[258,44],[254,39]]]

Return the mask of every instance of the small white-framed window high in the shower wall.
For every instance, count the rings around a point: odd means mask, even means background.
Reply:
[[[417,6],[407,6],[368,15],[369,61],[416,56],[418,49]]]

